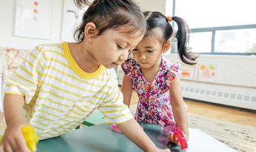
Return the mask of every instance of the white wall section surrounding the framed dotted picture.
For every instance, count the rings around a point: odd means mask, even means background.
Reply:
[[[15,0],[0,0],[0,47],[33,49],[33,47],[40,43],[60,42],[63,9],[62,0],[53,0],[51,40],[14,36],[15,6]]]

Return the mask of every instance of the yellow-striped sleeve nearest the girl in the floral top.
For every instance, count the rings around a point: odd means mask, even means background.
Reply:
[[[105,100],[99,107],[104,114],[106,123],[124,123],[133,118],[129,108],[124,104],[123,94],[118,87],[117,80],[111,80],[109,84],[113,87],[109,89]]]

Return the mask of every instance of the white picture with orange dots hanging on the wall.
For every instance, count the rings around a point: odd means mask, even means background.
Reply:
[[[15,36],[51,40],[52,0],[17,0]]]

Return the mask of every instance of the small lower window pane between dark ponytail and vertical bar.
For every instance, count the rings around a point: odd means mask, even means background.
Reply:
[[[211,32],[190,33],[189,45],[192,52],[211,52]]]

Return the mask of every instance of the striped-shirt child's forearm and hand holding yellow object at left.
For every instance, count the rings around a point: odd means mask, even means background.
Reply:
[[[4,151],[29,151],[22,135],[21,127],[29,125],[22,116],[24,97],[21,95],[4,95],[4,116],[6,130],[1,146]]]

